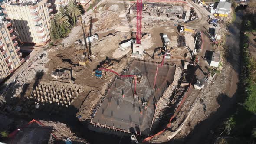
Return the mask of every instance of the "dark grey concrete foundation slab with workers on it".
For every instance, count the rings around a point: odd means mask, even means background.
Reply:
[[[134,94],[134,78],[116,77],[103,102],[93,110],[91,124],[108,130],[148,136],[156,102],[172,83],[175,69],[174,65],[161,66],[160,63],[135,60],[124,75],[142,75],[140,84],[136,85],[137,95]]]

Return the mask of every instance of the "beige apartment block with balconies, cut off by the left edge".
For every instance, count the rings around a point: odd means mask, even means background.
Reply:
[[[10,22],[0,23],[0,82],[25,60]]]

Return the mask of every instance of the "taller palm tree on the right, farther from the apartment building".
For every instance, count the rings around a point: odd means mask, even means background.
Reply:
[[[76,18],[81,15],[81,10],[75,0],[70,0],[68,7],[67,7],[67,12],[69,16],[73,19],[73,23],[76,25]]]

